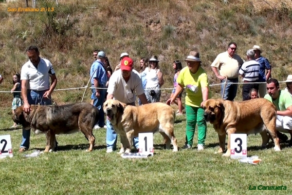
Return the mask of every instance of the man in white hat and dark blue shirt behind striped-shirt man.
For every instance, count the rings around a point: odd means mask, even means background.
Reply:
[[[269,60],[260,55],[262,52],[260,46],[254,45],[253,50],[255,51],[255,59],[259,63],[258,82],[263,82],[258,85],[258,93],[259,97],[263,98],[267,94],[266,81],[271,78],[271,66]]]

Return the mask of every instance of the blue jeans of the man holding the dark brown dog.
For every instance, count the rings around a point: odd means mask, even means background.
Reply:
[[[44,91],[31,91],[27,90],[27,100],[29,104],[40,104],[40,105],[52,105],[52,100],[48,98],[43,98]],[[22,141],[20,144],[20,148],[29,149],[30,144],[30,130],[25,130],[22,128]]]

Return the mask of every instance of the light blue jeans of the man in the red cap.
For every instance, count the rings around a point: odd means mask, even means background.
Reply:
[[[110,121],[107,119],[107,137],[106,137],[106,143],[107,143],[107,149],[116,149],[118,135],[113,130],[112,125],[110,124]],[[139,139],[138,137],[133,138],[133,145],[136,149],[139,148]],[[132,147],[132,146],[131,146]]]

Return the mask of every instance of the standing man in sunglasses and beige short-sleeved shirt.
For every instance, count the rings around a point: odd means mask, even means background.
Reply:
[[[217,78],[221,80],[221,97],[233,101],[237,93],[238,71],[243,64],[241,59],[235,52],[237,44],[231,42],[228,44],[227,51],[220,53],[211,64],[212,71]],[[218,70],[219,69],[219,73]],[[227,85],[224,90],[225,79],[227,78]]]

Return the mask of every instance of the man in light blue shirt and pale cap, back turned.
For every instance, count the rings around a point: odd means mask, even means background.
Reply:
[[[97,107],[99,110],[99,120],[98,124],[94,126],[94,129],[106,128],[105,125],[105,114],[102,109],[102,105],[105,101],[106,96],[106,84],[108,82],[107,71],[104,68],[104,62],[106,58],[106,53],[100,51],[97,54],[97,59],[92,63],[90,68],[91,76],[91,99],[93,99],[93,106]],[[103,88],[103,89],[96,89]]]

